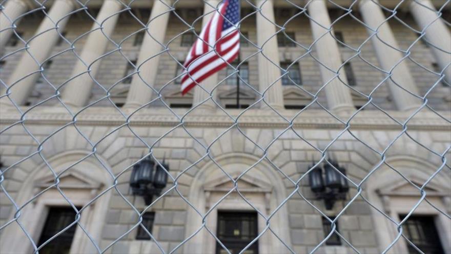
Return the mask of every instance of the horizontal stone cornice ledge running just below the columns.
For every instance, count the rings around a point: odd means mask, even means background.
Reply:
[[[11,109],[11,108],[9,108]],[[125,115],[132,111],[123,109]],[[174,110],[179,116],[184,111]],[[240,110],[228,110],[235,116]],[[251,115],[252,113],[252,115]],[[395,119],[407,119],[412,112],[391,111],[388,112]],[[281,114],[286,119],[291,119],[296,113],[293,110],[283,110]],[[449,112],[440,112],[446,119],[451,118]],[[344,117],[341,117],[344,119]],[[11,125],[19,122],[20,115],[12,113],[11,110],[0,111],[0,124]],[[399,120],[400,121],[400,120]],[[56,109],[53,107],[42,107],[34,109],[25,114],[25,123],[27,125],[63,125],[72,122],[72,117],[67,111]],[[126,123],[126,119],[115,108],[112,107],[93,107],[81,112],[76,117],[76,124],[81,126],[118,126]],[[152,108],[141,109],[130,118],[131,126],[176,126],[181,121],[168,109]],[[230,127],[234,121],[224,112],[217,110],[216,112],[197,114],[196,110],[183,118],[183,125],[186,127]],[[284,121],[275,113],[264,111],[261,109],[252,109],[239,117],[239,127],[245,128],[286,128],[290,123]],[[309,110],[301,113],[293,121],[294,128],[307,129],[343,129],[345,125],[334,119],[324,110]],[[361,111],[351,121],[351,129],[368,129],[368,130],[402,130],[402,126],[392,119],[388,118],[380,111]],[[441,119],[432,112],[419,112],[407,124],[408,130],[436,130],[451,131],[451,124]]]

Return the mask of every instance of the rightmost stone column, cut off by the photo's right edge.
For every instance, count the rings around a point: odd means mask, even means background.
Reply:
[[[422,6],[424,5],[424,6]],[[426,33],[426,40],[435,47],[430,47],[441,70],[445,69],[445,80],[451,84],[451,33],[443,21],[438,18],[437,10],[430,0],[412,1],[410,10],[421,30]]]

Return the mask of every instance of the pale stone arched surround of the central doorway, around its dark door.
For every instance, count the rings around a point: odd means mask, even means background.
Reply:
[[[255,164],[258,160],[259,158],[250,154],[226,154],[215,158],[215,162],[221,165],[222,170],[216,163],[209,162],[196,173],[188,200],[197,211],[189,207],[186,239],[190,239],[184,245],[185,253],[216,252],[218,244],[212,233],[217,236],[218,214],[230,211],[249,214],[255,210],[259,211],[256,215],[257,234],[266,230],[258,239],[257,252],[260,254],[290,252],[272,232],[266,229],[264,220],[264,217],[268,218],[285,200],[287,196],[285,187],[279,173],[265,161]],[[237,182],[239,192],[248,203],[237,191],[230,191],[234,185],[227,174],[237,179],[249,168],[251,169]],[[199,213],[207,214],[204,227]],[[291,246],[286,205],[274,213],[270,219],[270,226],[286,245]]]

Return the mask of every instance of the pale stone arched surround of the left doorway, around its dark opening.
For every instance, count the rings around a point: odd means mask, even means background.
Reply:
[[[69,253],[97,252],[91,241],[97,245],[100,243],[101,230],[110,200],[111,191],[108,191],[93,202],[98,194],[112,185],[112,178],[93,157],[76,163],[89,153],[89,151],[68,151],[47,160],[57,173],[70,167],[59,177],[59,189],[75,207],[81,208],[88,205],[82,211],[79,223],[89,233],[89,237],[78,225],[75,225],[73,236],[71,236],[72,242],[69,244],[71,246]],[[19,221],[36,244],[43,233],[49,212],[54,211],[54,208],[66,211],[71,208],[71,204],[58,189],[48,188],[54,182],[54,175],[48,166],[43,164],[28,175],[18,192],[17,205],[19,207],[25,205],[20,210]],[[29,202],[30,199],[32,199],[31,202]],[[11,219],[15,212],[11,214]],[[3,235],[0,246],[2,246],[0,251],[2,253],[33,252],[30,240],[16,222],[8,225],[8,234]]]

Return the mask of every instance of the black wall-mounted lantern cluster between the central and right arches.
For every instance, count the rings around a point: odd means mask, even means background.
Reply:
[[[346,175],[346,169],[340,167],[337,162],[333,160],[329,160],[329,162],[342,174]],[[323,167],[316,166],[310,171],[309,182],[316,198],[324,200],[327,210],[331,210],[334,207],[335,201],[345,200],[346,193],[349,191],[349,184],[346,178],[330,164],[325,164]]]

